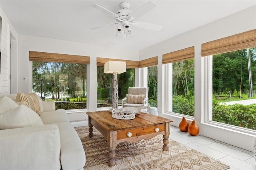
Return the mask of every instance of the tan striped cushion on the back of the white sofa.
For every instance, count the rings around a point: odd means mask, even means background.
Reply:
[[[41,107],[40,103],[38,100],[38,95],[36,93],[29,93],[29,94],[24,94],[19,92],[16,96],[16,100],[18,102],[20,101],[26,101],[30,108],[35,111],[38,115],[41,113]]]

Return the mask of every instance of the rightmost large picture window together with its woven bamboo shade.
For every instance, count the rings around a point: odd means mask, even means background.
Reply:
[[[208,56],[208,121],[256,130],[256,30],[202,44]]]

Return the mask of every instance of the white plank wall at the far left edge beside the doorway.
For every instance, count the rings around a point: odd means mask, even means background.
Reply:
[[[10,94],[10,32],[13,38],[18,38],[18,34],[13,29],[8,18],[0,8],[2,17],[2,35],[1,35],[1,73],[0,73],[0,97]]]

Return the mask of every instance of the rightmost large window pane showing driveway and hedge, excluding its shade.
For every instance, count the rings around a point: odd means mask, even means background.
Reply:
[[[256,130],[256,47],[209,59],[209,120]]]

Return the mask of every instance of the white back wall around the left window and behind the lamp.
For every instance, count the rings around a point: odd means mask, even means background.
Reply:
[[[99,46],[87,43],[70,42],[50,38],[19,35],[18,41],[18,91],[32,91],[32,61],[28,60],[29,51],[84,55],[90,57],[88,77],[87,109],[96,111],[97,108],[97,66],[96,58],[129,59],[138,61],[139,51],[118,49],[109,46]],[[26,80],[21,80],[25,77]]]

